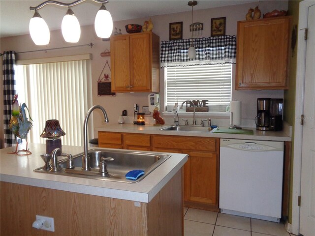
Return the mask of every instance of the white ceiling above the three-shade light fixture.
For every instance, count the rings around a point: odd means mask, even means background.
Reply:
[[[74,0],[60,0],[73,2]],[[257,0],[198,0],[194,9],[243,4]],[[16,36],[29,33],[29,22],[34,11],[30,6],[37,6],[42,0],[0,0],[0,37]],[[190,11],[188,0],[109,0],[105,5],[111,13],[113,21],[143,18],[148,16]],[[73,6],[80,25],[93,25],[100,3],[87,0]],[[61,29],[61,22],[66,7],[48,4],[38,10],[50,30]],[[87,14],[87,12],[91,12]]]

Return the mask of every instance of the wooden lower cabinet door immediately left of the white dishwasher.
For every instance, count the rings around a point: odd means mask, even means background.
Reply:
[[[184,204],[187,207],[218,210],[218,156],[216,153],[188,153],[184,165]]]

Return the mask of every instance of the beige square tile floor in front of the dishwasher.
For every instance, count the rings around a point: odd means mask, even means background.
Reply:
[[[293,236],[283,223],[184,207],[185,236]]]

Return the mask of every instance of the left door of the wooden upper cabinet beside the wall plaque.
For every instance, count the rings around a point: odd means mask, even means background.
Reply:
[[[112,91],[130,90],[129,35],[119,35],[111,39]]]

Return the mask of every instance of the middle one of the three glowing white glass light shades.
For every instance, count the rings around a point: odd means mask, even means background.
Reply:
[[[79,41],[81,36],[80,24],[70,8],[67,10],[67,13],[63,17],[61,30],[63,32],[63,38],[66,42],[77,43]]]

